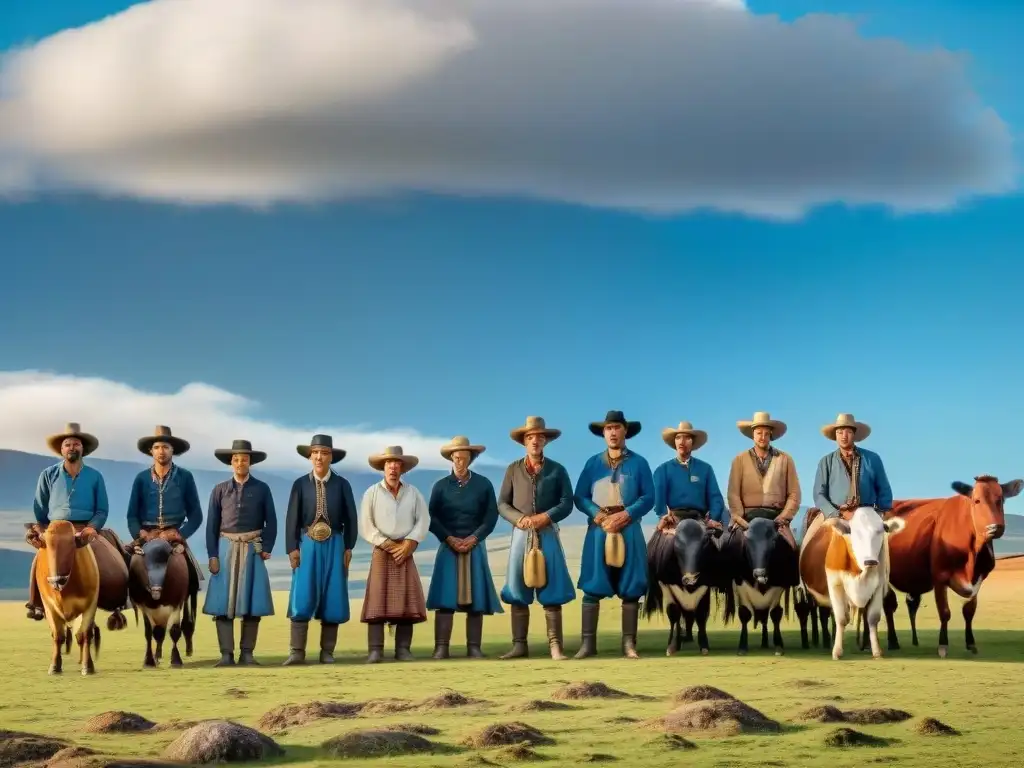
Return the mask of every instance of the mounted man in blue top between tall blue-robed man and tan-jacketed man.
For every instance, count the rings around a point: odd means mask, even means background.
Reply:
[[[722,529],[728,514],[712,466],[693,456],[708,442],[708,433],[688,421],[662,430],[662,439],[676,455],[654,470],[654,514],[657,528],[672,527],[684,517]]]

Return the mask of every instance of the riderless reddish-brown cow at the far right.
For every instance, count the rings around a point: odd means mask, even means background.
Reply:
[[[907,594],[907,611],[913,644],[918,644],[915,623],[920,599],[928,591],[935,593],[939,613],[939,656],[945,658],[949,646],[948,624],[951,611],[947,589],[967,602],[964,604],[965,639],[972,653],[978,652],[974,640],[974,614],[978,593],[985,578],[995,568],[992,542],[1006,529],[1004,503],[1021,493],[1024,480],[999,484],[991,475],[978,475],[974,485],[953,482],[955,496],[946,499],[911,499],[893,502],[887,518],[900,517],[904,531],[890,545],[892,569],[889,583]],[[890,635],[894,604],[886,605]]]

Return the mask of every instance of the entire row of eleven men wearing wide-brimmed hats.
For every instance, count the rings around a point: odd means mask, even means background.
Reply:
[[[662,431],[676,455],[651,472],[647,460],[627,447],[627,441],[640,432],[640,423],[626,419],[621,411],[609,411],[603,420],[590,424],[590,431],[603,437],[605,449],[586,462],[574,490],[564,466],[545,454],[561,431],[540,417],[528,417],[511,430],[525,455],[509,465],[497,493],[490,480],[471,471],[485,446],[467,437],[455,437],[441,446],[452,472],[434,483],[429,502],[402,481],[419,458],[404,454],[401,446],[389,446],[369,458],[370,466],[383,477],[366,490],[358,507],[349,481],[332,469],[346,452],[334,447],[330,435],[313,435],[308,444],[297,446],[311,468],[293,482],[285,521],[285,548],[292,567],[291,640],[285,664],[305,663],[309,622],[314,620],[321,623],[318,660],[333,663],[338,627],[350,618],[348,571],[357,537],[373,548],[360,616],[368,625],[370,663],[384,657],[387,625],[394,627],[394,657],[412,659],[413,628],[427,620],[429,610],[435,611],[434,658],[450,655],[457,612],[466,614],[467,655],[482,657],[483,616],[503,613],[502,602],[511,608],[512,625],[512,648],[503,658],[528,655],[529,606],[539,602],[551,657],[564,659],[562,606],[575,599],[577,589],[584,596],[575,658],[597,653],[600,604],[613,596],[623,602],[623,654],[636,658],[639,600],[647,591],[646,542],[640,521],[652,509],[660,518],[658,527],[690,517],[716,534],[721,531],[726,541],[751,519],[768,517],[775,520],[782,539],[797,547],[791,523],[800,507],[799,479],[790,455],[772,444],[785,434],[786,425],[768,413],[757,413],[752,420],[737,422],[737,427],[753,445],[732,462],[728,511],[713,468],[693,456],[707,443],[708,434],[689,422]],[[822,427],[822,433],[838,446],[818,463],[814,496],[823,515],[812,524],[858,506],[874,506],[880,514],[888,511],[892,490],[882,460],[855,444],[870,433],[870,427],[851,414],[840,414]],[[78,424],[69,424],[62,433],[48,437],[47,444],[62,461],[39,476],[30,540],[38,539],[51,520],[70,520],[94,549],[111,548],[104,550],[109,556],[114,547],[120,548],[130,563],[150,537],[170,536],[186,556],[198,589],[203,573],[187,540],[203,524],[204,514],[191,473],[174,463],[189,450],[186,440],[164,426],[138,440],[138,450],[152,457],[153,465],[135,477],[132,486],[127,524],[133,541],[128,547],[104,528],[109,504],[102,475],[82,462],[98,447],[97,438]],[[214,454],[231,467],[231,477],[214,486],[207,507],[210,584],[203,612],[216,622],[218,666],[256,665],[260,618],[274,612],[265,561],[279,537],[270,487],[250,471],[266,459],[266,453],[254,450],[248,440],[234,440],[229,449]],[[558,534],[558,524],[573,508],[588,518],[575,587]],[[484,545],[499,516],[514,526],[500,597]],[[428,530],[440,546],[424,596],[414,553]],[[43,617],[34,590],[28,608],[30,617]],[[238,662],[236,618],[242,624]]]

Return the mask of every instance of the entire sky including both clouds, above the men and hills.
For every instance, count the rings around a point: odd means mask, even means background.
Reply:
[[[1021,7],[199,7],[0,18],[0,447],[502,465],[540,415],[575,475],[618,409],[724,487],[768,411],[810,503],[846,412],[897,498],[1024,475]]]

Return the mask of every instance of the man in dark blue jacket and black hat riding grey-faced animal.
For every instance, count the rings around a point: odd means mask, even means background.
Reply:
[[[193,473],[174,463],[174,457],[184,456],[190,446],[165,426],[140,437],[136,445],[140,453],[153,457],[153,466],[135,475],[131,486],[127,513],[132,537],[129,556],[141,557],[142,545],[156,537],[180,546],[188,565],[188,595],[195,602],[204,577],[188,539],[203,524],[203,507]],[[196,616],[189,615],[189,620],[195,624]]]

